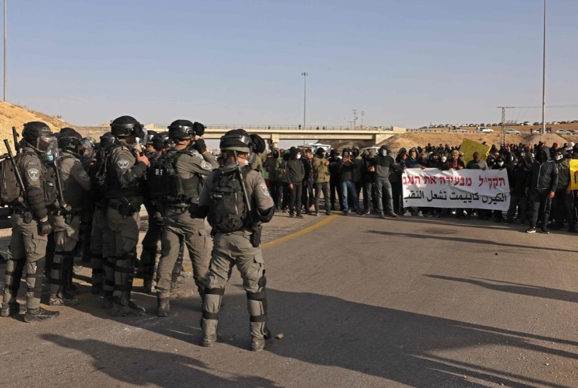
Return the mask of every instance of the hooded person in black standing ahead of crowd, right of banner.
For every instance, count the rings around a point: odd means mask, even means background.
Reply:
[[[540,231],[549,233],[547,222],[550,215],[552,199],[556,195],[558,188],[558,168],[554,161],[549,160],[549,149],[546,146],[539,148],[536,161],[531,166],[530,173],[526,179],[526,196],[529,199],[530,227],[527,233],[536,233],[536,222],[538,216],[542,225]]]

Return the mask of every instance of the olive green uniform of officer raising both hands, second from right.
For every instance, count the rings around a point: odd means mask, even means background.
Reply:
[[[169,152],[176,151],[172,149]],[[204,227],[204,219],[191,218],[188,207],[191,203],[198,203],[202,180],[218,168],[218,162],[209,152],[200,154],[197,150],[189,149],[175,156],[174,166],[175,173],[184,183],[188,199],[184,203],[159,205],[164,219],[161,259],[156,270],[156,292],[159,300],[170,295],[172,270],[179,256],[181,240],[188,249],[188,256],[193,264],[193,279],[200,297],[204,297],[204,284],[209,269],[208,233]]]

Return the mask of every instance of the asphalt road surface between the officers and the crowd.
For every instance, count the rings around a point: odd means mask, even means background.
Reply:
[[[157,318],[154,295],[136,292],[147,314],[113,318],[88,294],[85,269],[81,304],[55,307],[59,318],[0,318],[0,385],[578,387],[575,235],[280,214],[264,239],[270,326],[283,336],[264,351],[248,350],[236,272],[220,342],[202,348],[198,295]]]

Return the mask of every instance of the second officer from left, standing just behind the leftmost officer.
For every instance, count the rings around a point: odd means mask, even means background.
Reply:
[[[72,281],[74,248],[79,242],[80,210],[83,192],[90,190],[90,178],[80,161],[81,135],[70,129],[61,130],[58,148],[61,154],[56,158],[62,195],[65,203],[59,203],[58,210],[49,211],[49,220],[54,231],[54,260],[50,267],[51,306],[72,306],[78,298],[67,290]]]

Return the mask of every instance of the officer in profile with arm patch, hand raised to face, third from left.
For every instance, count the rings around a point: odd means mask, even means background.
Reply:
[[[130,300],[136,261],[136,244],[141,226],[139,214],[143,204],[140,181],[147,171],[149,160],[141,155],[137,139],[146,136],[143,125],[131,116],[120,116],[111,123],[111,133],[117,142],[110,150],[108,199],[106,221],[111,232],[109,240],[109,262],[113,270],[113,316],[141,316],[145,309]],[[107,295],[105,295],[105,298]],[[105,299],[104,307],[110,304]]]

